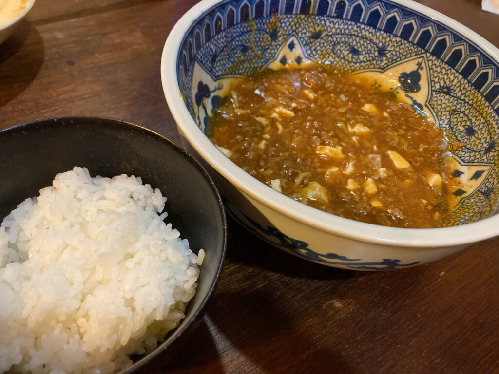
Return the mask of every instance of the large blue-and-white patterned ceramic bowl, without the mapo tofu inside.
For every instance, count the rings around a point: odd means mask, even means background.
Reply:
[[[321,61],[383,81],[451,141],[456,207],[443,228],[357,222],[294,201],[246,174],[205,135],[230,80]],[[228,212],[294,255],[359,270],[430,262],[499,234],[499,50],[407,0],[204,0],[163,50],[165,96],[183,144],[210,166]]]

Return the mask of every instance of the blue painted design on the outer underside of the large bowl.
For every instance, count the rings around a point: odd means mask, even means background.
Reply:
[[[275,227],[267,226],[267,228],[263,228],[258,222],[251,219],[240,209],[234,207],[227,198],[222,197],[222,200],[224,201],[224,206],[230,216],[255,236],[269,244],[287,250],[298,257],[303,257],[310,261],[321,262],[332,266],[341,265],[357,270],[392,270],[416,266],[420,263],[420,261],[416,261],[409,264],[401,264],[400,260],[395,258],[383,258],[380,261],[363,262],[361,258],[348,258],[332,252],[320,254],[308,248],[307,242],[293,239],[280,232]]]

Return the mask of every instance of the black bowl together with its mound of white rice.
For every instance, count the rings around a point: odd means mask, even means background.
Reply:
[[[227,228],[205,170],[93,117],[0,131],[0,373],[151,373],[200,322]]]

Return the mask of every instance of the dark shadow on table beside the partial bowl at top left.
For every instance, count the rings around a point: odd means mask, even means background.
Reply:
[[[0,45],[0,108],[21,94],[34,80],[44,59],[43,39],[22,20]]]

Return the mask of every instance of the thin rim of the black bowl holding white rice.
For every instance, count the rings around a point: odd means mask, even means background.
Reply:
[[[141,132],[145,135],[148,135],[150,137],[158,138],[163,143],[165,143],[167,146],[172,147],[175,151],[177,151],[184,158],[186,158],[187,160],[190,161],[190,163],[197,169],[198,172],[200,172],[203,175],[205,180],[209,183],[209,185],[212,188],[212,191],[215,193],[215,196],[217,197],[217,200],[219,203],[220,213],[222,216],[222,230],[223,230],[224,236],[223,236],[222,254],[220,256],[220,260],[218,263],[218,268],[217,268],[217,272],[215,274],[215,279],[214,279],[210,289],[208,290],[208,293],[206,294],[203,301],[201,302],[201,305],[199,306],[199,308],[197,310],[193,311],[193,314],[191,315],[190,319],[183,326],[177,327],[174,330],[174,332],[165,341],[163,341],[161,344],[159,344],[158,347],[153,352],[151,352],[150,354],[146,355],[145,357],[143,357],[142,359],[140,359],[139,361],[134,363],[131,367],[118,372],[118,374],[130,374],[130,373],[133,373],[135,371],[140,372],[142,367],[147,365],[147,363],[150,360],[152,360],[153,358],[157,357],[158,355],[161,355],[169,346],[171,346],[182,335],[182,333],[184,333],[186,330],[188,330],[188,328],[194,323],[195,320],[197,320],[198,318],[203,316],[204,309],[206,308],[206,305],[207,305],[208,301],[210,300],[213,292],[215,291],[215,288],[216,288],[217,283],[219,281],[220,274],[221,274],[222,268],[223,268],[225,254],[227,251],[227,217],[226,217],[224,205],[223,205],[220,193],[219,193],[217,187],[215,186],[215,183],[213,182],[212,178],[206,172],[206,170],[203,168],[203,166],[190,153],[188,153],[184,148],[179,146],[177,143],[171,141],[170,139],[164,137],[163,135],[161,135],[161,134],[159,134],[151,129],[148,129],[146,127],[132,123],[132,122],[123,121],[123,120],[120,120],[117,118],[100,117],[100,116],[46,117],[46,118],[40,118],[40,119],[36,119],[36,120],[32,120],[32,121],[26,121],[26,122],[23,122],[20,124],[12,125],[12,126],[4,128],[4,129],[1,129],[0,136],[3,136],[6,133],[8,134],[10,132],[19,131],[22,129],[30,129],[32,127],[36,127],[39,125],[44,126],[47,122],[50,122],[50,121],[56,122],[56,121],[71,121],[71,120],[88,120],[89,122],[90,121],[93,121],[93,122],[106,121],[115,127],[122,127],[124,129],[139,131],[139,132]]]

